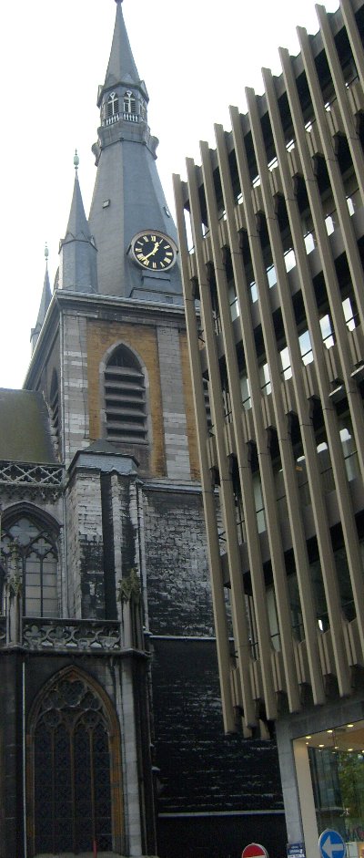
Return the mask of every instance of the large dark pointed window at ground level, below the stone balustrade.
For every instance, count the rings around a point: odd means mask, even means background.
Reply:
[[[67,668],[30,717],[29,853],[121,852],[121,765],[115,710]]]

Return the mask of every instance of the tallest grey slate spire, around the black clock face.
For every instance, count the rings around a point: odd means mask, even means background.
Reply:
[[[146,231],[177,243],[157,173],[158,140],[147,121],[147,88],[139,78],[126,32],[121,0],[103,86],[98,88],[100,124],[96,183],[89,226],[97,247],[98,291],[147,301],[182,302],[179,266],[153,273],[136,264],[131,244]]]

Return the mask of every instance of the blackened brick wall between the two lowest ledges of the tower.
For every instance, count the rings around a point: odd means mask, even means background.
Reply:
[[[224,735],[215,641],[151,643],[159,811],[280,810],[274,742]]]

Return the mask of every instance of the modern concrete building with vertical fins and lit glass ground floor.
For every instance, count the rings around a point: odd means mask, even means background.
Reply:
[[[225,725],[309,858],[364,841],[364,4],[317,11],[175,177]]]

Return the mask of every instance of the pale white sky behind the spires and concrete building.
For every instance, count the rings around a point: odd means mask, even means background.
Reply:
[[[327,0],[328,12],[339,0]],[[148,120],[160,140],[158,169],[174,211],[171,175],[229,129],[228,105],[263,91],[260,68],[280,74],[278,47],[298,53],[296,26],[318,30],[313,0],[125,0],[123,12]],[[0,387],[23,384],[30,329],[45,275],[53,287],[66,232],[75,148],[86,214],[96,176],[91,145],[114,30],[113,0],[10,0],[0,6],[3,81],[0,159]],[[258,36],[257,36],[258,34]]]

